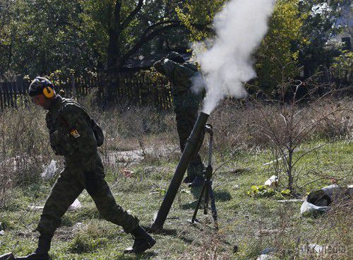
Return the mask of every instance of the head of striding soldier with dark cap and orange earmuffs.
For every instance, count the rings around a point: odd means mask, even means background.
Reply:
[[[32,102],[35,102],[35,104],[40,105],[46,110],[49,109],[56,97],[54,84],[47,78],[42,77],[37,77],[30,83],[28,94],[32,98]]]

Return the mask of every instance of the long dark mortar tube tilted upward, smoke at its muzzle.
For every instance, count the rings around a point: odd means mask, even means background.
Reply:
[[[205,114],[204,112],[201,112],[198,115],[198,119],[193,126],[193,131],[191,131],[191,134],[186,141],[186,146],[179,160],[177,169],[174,172],[172,182],[169,184],[169,188],[164,196],[160,210],[157,213],[157,217],[150,228],[151,232],[158,232],[163,229],[164,221],[167,219],[167,215],[172,207],[175,196],[177,196],[178,189],[183,180],[186,169],[189,166],[191,158],[193,158],[193,155],[196,153],[198,142],[200,141],[201,134],[205,129],[205,124],[207,123],[209,116],[209,114]]]

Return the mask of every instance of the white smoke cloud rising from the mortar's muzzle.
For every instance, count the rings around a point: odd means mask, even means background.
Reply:
[[[243,83],[256,76],[251,54],[268,30],[268,17],[275,0],[232,0],[213,21],[217,37],[212,47],[202,51],[207,42],[193,45],[201,64],[207,91],[203,112],[210,114],[226,95],[246,95]],[[200,87],[195,80],[194,90]]]

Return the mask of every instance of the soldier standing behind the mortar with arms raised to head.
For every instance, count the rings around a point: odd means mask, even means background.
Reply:
[[[201,93],[194,93],[191,90],[193,78],[199,76],[200,72],[195,64],[186,62],[177,52],[170,52],[167,57],[155,62],[153,66],[162,75],[167,76],[172,85],[174,112],[182,153],[198,117],[198,108],[203,98]],[[203,168],[201,156],[196,153],[191,159],[184,182],[190,183],[189,187],[202,186]]]

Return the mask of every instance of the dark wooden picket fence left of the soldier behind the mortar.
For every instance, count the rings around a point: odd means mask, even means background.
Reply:
[[[115,76],[86,75],[80,77],[54,78],[56,92],[64,90],[66,98],[80,98],[95,89],[97,102],[105,107],[121,108],[153,106],[157,110],[172,107],[172,93],[167,79],[151,73],[120,73]],[[6,107],[22,107],[30,102],[30,81],[0,83],[0,111]]]

